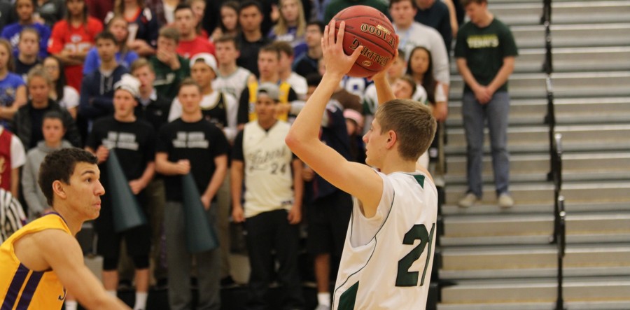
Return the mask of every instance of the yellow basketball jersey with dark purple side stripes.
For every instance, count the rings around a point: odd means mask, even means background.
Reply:
[[[0,246],[1,309],[62,308],[66,290],[57,274],[52,270],[34,272],[15,256],[15,241],[42,230],[63,230],[71,234],[64,219],[57,213],[50,213],[20,228]]]

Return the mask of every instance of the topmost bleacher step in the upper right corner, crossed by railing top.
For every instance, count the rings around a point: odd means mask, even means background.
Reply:
[[[509,25],[540,24],[542,2],[489,3],[489,10]],[[553,24],[598,24],[601,22],[627,22],[630,1],[571,1],[552,3]]]

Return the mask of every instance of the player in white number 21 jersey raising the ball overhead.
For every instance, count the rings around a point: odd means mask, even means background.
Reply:
[[[428,171],[416,167],[416,159],[433,140],[436,122],[425,105],[394,99],[384,70],[373,77],[381,104],[363,137],[366,162],[377,169],[348,162],[319,141],[325,105],[362,50],[344,54],[344,27],[342,22],[337,36],[335,21],[326,27],[326,73],[286,137],[304,163],[356,198],[332,309],[425,309],[437,190]]]

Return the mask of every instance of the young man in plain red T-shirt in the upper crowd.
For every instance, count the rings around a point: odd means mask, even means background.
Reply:
[[[197,34],[195,22],[195,12],[188,4],[179,4],[175,8],[175,27],[179,30],[176,52],[188,59],[201,52],[214,55],[214,44]]]

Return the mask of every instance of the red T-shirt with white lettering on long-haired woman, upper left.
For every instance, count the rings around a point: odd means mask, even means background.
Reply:
[[[48,41],[48,52],[55,55],[62,50],[87,52],[94,46],[94,37],[103,31],[103,24],[94,17],[87,17],[87,25],[72,27],[66,20],[59,20],[52,27],[52,34]],[[83,64],[66,66],[66,84],[81,89],[83,79]]]

